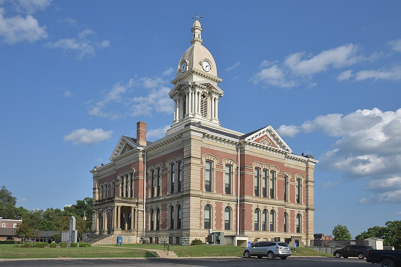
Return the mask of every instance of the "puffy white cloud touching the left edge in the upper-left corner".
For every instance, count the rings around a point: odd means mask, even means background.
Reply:
[[[46,26],[39,26],[38,20],[32,15],[25,18],[21,15],[14,17],[4,17],[4,8],[0,8],[0,36],[4,36],[4,41],[13,44],[27,40],[35,42],[42,38],[47,38]]]

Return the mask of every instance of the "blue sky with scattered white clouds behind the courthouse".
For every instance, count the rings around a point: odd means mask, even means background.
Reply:
[[[1,182],[25,208],[92,196],[121,135],[172,123],[191,17],[222,126],[272,125],[315,171],[315,232],[401,219],[400,1],[0,0]]]

